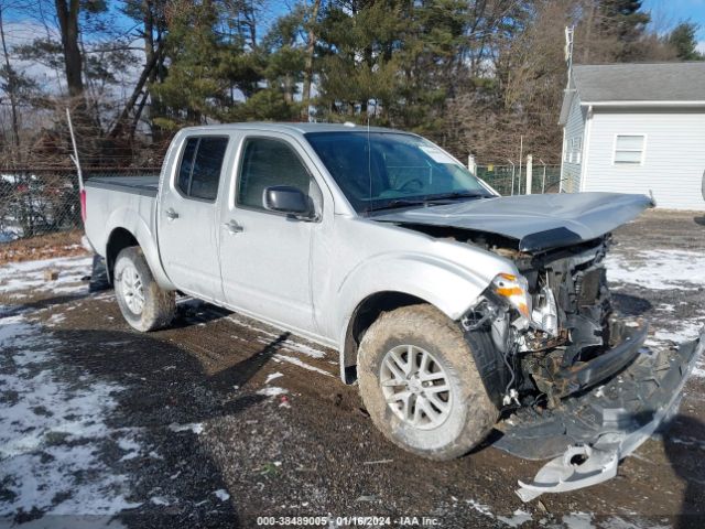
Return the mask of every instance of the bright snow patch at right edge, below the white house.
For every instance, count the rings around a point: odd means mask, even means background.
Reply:
[[[612,253],[606,259],[607,279],[651,290],[693,290],[705,285],[705,256],[686,250],[643,250],[627,261]]]

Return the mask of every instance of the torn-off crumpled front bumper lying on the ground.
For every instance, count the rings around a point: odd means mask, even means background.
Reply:
[[[681,392],[705,349],[699,336],[677,349],[643,347],[623,371],[603,386],[570,397],[554,410],[523,410],[501,425],[494,445],[513,455],[553,457],[517,494],[530,501],[615,477],[619,461],[637,450],[677,412]]]

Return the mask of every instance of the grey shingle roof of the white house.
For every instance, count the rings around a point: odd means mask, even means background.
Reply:
[[[705,62],[578,64],[563,99],[561,123],[577,95],[581,105],[705,105]]]

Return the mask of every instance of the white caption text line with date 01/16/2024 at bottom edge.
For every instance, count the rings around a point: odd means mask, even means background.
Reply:
[[[437,527],[441,520],[431,516],[260,516],[258,526],[321,527]]]

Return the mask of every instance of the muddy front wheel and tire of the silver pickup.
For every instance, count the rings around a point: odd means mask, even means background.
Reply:
[[[360,343],[357,369],[375,425],[414,454],[459,457],[497,422],[463,332],[431,305],[382,314]]]

